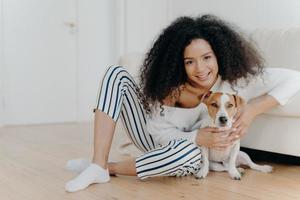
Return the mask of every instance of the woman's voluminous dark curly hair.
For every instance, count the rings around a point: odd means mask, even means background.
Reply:
[[[151,112],[169,95],[180,94],[187,81],[183,53],[194,39],[206,40],[214,51],[219,75],[232,86],[263,71],[263,59],[237,28],[213,15],[180,17],[165,28],[146,54],[140,69],[142,104]]]

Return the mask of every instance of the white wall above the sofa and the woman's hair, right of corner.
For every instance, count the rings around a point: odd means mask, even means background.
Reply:
[[[246,30],[300,26],[299,0],[173,0],[172,17],[213,13]]]

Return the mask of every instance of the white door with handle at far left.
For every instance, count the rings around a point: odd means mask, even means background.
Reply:
[[[76,121],[76,0],[2,0],[5,124]]]

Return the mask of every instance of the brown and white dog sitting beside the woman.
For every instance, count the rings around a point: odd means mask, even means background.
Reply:
[[[203,98],[210,116],[211,127],[232,127],[233,117],[238,109],[245,105],[245,100],[240,96],[228,93],[208,93]],[[240,180],[243,174],[240,165],[249,166],[251,169],[261,172],[272,172],[273,168],[269,165],[255,164],[248,154],[240,151],[240,140],[236,140],[231,146],[224,150],[201,147],[202,151],[202,167],[196,174],[196,178],[205,178],[212,171],[228,171],[230,177]]]

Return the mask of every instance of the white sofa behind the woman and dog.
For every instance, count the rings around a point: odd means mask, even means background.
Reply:
[[[288,30],[256,30],[250,33],[266,60],[268,67],[285,67],[300,71],[300,28]],[[137,78],[143,54],[131,53],[121,57],[119,64]],[[256,150],[300,157],[300,93],[286,106],[279,106],[260,115],[253,122],[241,146]],[[118,124],[117,132],[125,129]],[[121,153],[139,154],[125,134],[119,139]]]

